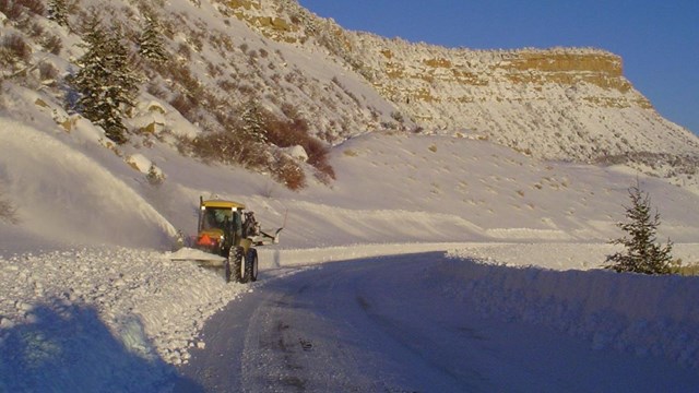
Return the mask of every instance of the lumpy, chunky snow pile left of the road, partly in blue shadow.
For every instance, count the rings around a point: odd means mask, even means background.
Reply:
[[[204,345],[194,338],[204,321],[251,289],[166,257],[105,248],[0,258],[0,391],[154,391],[171,380],[170,365]]]

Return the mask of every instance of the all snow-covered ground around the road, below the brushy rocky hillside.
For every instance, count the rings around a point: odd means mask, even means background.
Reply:
[[[623,168],[375,134],[333,150],[330,187],[311,179],[291,192],[166,144],[116,155],[88,124],[66,133],[35,115],[35,126],[0,117],[0,198],[17,218],[0,222],[0,391],[167,391],[206,347],[204,322],[266,282],[329,261],[449,250],[428,272],[439,291],[417,288],[434,296],[425,301],[446,296],[482,318],[697,369],[697,278],[591,271],[620,235],[614,222],[637,176]],[[165,182],[149,184],[147,167],[126,164],[134,156],[157,160]],[[699,198],[640,181],[675,257],[699,261]],[[260,252],[259,284],[226,285],[221,272],[170,260],[177,230],[196,226],[199,196],[213,194],[244,201],[264,227],[287,217],[282,243]]]

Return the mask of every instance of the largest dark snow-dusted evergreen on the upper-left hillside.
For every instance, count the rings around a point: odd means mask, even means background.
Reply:
[[[80,71],[71,80],[81,95],[79,109],[86,119],[100,126],[107,138],[122,144],[128,138],[121,119],[126,108],[133,106],[138,78],[129,67],[129,53],[118,29],[105,34],[94,15],[86,27],[87,50],[78,61]]]

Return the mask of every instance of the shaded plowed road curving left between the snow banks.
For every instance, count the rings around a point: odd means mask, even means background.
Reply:
[[[443,252],[263,272],[203,331],[176,391],[688,392],[696,370],[452,296]],[[458,263],[458,262],[457,262]],[[469,263],[469,262],[465,262]],[[447,269],[445,269],[447,267]],[[463,285],[466,285],[462,282]]]

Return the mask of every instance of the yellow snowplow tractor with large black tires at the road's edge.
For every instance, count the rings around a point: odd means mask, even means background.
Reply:
[[[223,267],[226,282],[254,282],[258,279],[258,251],[256,246],[279,243],[283,228],[266,234],[245,205],[233,201],[199,199],[199,224],[194,247],[225,258]]]

